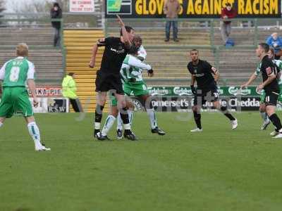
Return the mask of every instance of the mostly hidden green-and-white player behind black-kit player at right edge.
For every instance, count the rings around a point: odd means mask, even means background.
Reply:
[[[275,60],[274,59],[274,49],[270,49],[269,52],[269,58],[272,59],[273,63],[276,64],[278,67],[278,84],[279,84],[279,89],[282,90],[282,79],[281,79],[281,71],[282,71],[282,60]],[[245,87],[249,86],[259,75],[260,75],[260,68],[261,68],[262,63],[259,63],[257,65],[257,70],[251,75],[249,81],[241,86],[241,89],[244,89]],[[266,129],[266,127],[270,124],[269,117],[266,114],[266,108],[265,108],[265,103],[264,103],[264,97],[265,93],[264,90],[262,90],[262,95],[260,97],[260,104],[259,104],[259,113],[262,116],[262,120],[264,122],[262,123],[261,129]],[[282,102],[282,92],[280,92],[280,95],[278,97],[278,101]],[[271,133],[271,135],[276,135],[274,132]]]

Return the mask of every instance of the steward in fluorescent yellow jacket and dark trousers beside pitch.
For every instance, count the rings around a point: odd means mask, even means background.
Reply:
[[[63,78],[62,88],[63,97],[70,99],[73,110],[75,110],[75,112],[83,112],[80,100],[76,95],[77,87],[75,84],[75,74],[73,72],[69,72],[68,75]]]

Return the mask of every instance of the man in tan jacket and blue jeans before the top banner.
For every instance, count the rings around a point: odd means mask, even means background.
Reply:
[[[178,0],[166,0],[164,4],[164,14],[166,18],[178,18],[178,13],[180,11],[180,4]],[[171,26],[173,28],[173,41],[178,41],[178,23],[176,20],[167,20],[166,21],[166,39],[169,41],[171,34]]]

